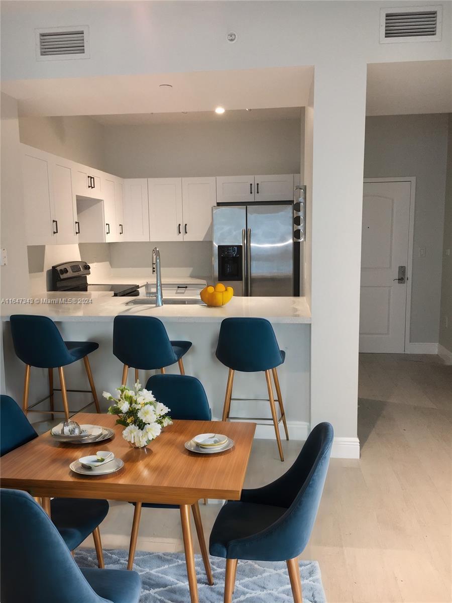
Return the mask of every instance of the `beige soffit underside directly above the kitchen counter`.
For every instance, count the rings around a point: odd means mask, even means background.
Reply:
[[[301,107],[312,80],[312,67],[284,67],[14,80],[2,90],[19,99],[21,115],[131,115]]]

